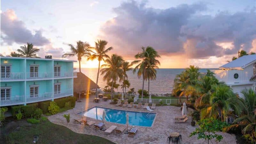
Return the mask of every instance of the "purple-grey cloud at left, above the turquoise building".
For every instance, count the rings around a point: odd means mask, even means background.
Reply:
[[[36,30],[33,34],[25,23],[19,20],[15,12],[11,9],[1,13],[1,44],[7,43],[12,45],[33,43],[37,46],[50,44],[50,41],[42,36],[41,30]]]

